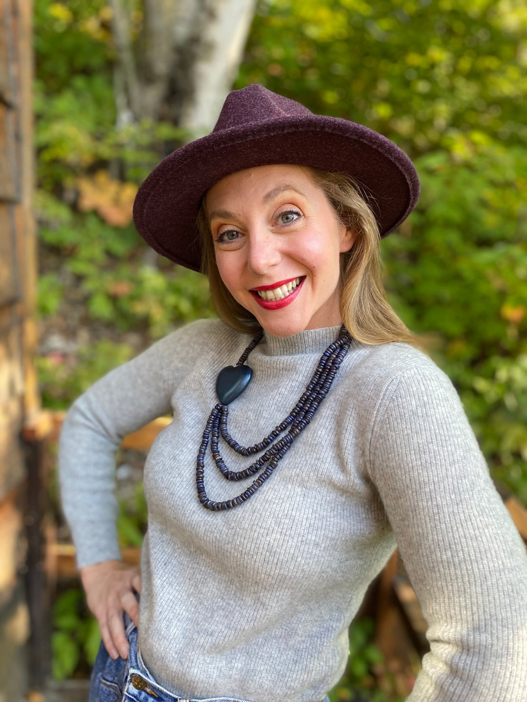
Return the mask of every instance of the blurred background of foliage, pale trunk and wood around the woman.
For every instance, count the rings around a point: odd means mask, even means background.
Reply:
[[[0,117],[6,125],[9,114],[20,118],[13,143],[29,154],[20,156],[22,194],[0,192],[6,213],[22,203],[26,217],[16,234],[25,244],[14,253],[7,244],[2,249],[6,257],[18,252],[18,263],[11,267],[4,258],[0,267],[4,282],[13,270],[23,279],[18,390],[11,371],[2,370],[11,383],[5,397],[25,397],[16,420],[25,468],[17,479],[9,478],[15,468],[6,468],[2,482],[4,503],[11,484],[22,486],[13,498],[15,536],[3,551],[18,583],[8,591],[19,592],[0,602],[4,665],[20,666],[4,683],[9,698],[85,697],[79,690],[86,689],[100,637],[58,505],[56,436],[63,412],[103,373],[177,326],[214,315],[207,279],[149,249],[134,230],[131,208],[138,185],[164,156],[211,131],[232,88],[260,83],[317,114],[357,121],[415,162],[422,183],[417,209],[382,242],[386,290],[453,380],[527,538],[525,2],[34,0],[30,6],[4,0],[0,43],[7,71]],[[6,126],[7,143],[9,135]],[[8,147],[0,147],[7,164]],[[8,219],[2,221],[8,232]],[[13,331],[10,294],[0,299],[0,321]],[[7,357],[4,352],[2,369]],[[40,424],[32,423],[37,414]],[[131,562],[146,524],[145,452],[163,421],[128,439],[117,456],[119,538]],[[427,650],[426,623],[401,563],[392,559],[390,568],[352,625],[349,668],[332,702],[401,700],[411,690]],[[7,699],[1,686],[0,701]]]

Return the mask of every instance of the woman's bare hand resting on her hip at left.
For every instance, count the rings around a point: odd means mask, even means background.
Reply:
[[[80,569],[88,607],[99,623],[108,654],[127,658],[129,644],[124,633],[123,610],[138,625],[139,606],[135,592],[141,593],[141,572],[122,561],[110,560]]]

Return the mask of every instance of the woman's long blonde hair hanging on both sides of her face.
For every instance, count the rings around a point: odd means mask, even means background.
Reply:
[[[350,176],[300,166],[325,193],[337,217],[358,232],[350,251],[341,253],[340,314],[353,338],[375,345],[417,339],[391,308],[382,284],[379,227],[370,207]],[[204,208],[204,196],[197,215],[202,245],[202,272],[208,274],[212,302],[223,322],[236,331],[254,334],[261,329],[251,312],[242,307],[220,277],[214,242]]]

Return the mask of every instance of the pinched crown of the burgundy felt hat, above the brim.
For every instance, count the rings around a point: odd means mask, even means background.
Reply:
[[[214,127],[214,132],[249,124],[280,119],[280,117],[304,117],[313,114],[295,100],[277,95],[263,86],[253,83],[247,88],[230,92]]]

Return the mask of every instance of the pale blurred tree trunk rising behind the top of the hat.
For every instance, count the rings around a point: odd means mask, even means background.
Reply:
[[[196,138],[212,130],[242,59],[256,0],[143,0],[131,37],[126,0],[110,0],[117,124],[164,119]]]

